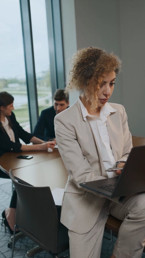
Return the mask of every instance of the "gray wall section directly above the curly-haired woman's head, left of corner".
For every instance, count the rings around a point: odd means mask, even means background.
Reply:
[[[75,0],[75,17],[77,48],[95,46],[121,56],[118,0]],[[121,103],[121,86],[119,75],[110,102]]]

